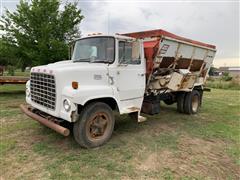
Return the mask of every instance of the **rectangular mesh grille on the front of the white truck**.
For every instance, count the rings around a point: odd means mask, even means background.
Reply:
[[[33,102],[51,110],[55,109],[56,86],[53,75],[31,73],[30,91]]]

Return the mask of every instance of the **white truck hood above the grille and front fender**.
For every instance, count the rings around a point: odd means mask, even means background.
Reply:
[[[57,86],[71,85],[72,81],[79,82],[80,86],[96,86],[108,84],[108,64],[60,61],[44,66],[36,66],[31,72],[53,74]]]

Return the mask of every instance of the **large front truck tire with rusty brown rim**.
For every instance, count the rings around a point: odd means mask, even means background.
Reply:
[[[107,104],[91,103],[83,109],[80,119],[74,123],[74,138],[84,148],[101,146],[111,138],[114,124],[112,109]]]

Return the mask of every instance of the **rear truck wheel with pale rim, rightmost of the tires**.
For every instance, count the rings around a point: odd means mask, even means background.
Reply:
[[[201,96],[197,90],[188,92],[184,100],[184,112],[186,114],[196,114],[201,105]]]

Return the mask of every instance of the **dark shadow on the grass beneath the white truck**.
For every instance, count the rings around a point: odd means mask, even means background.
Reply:
[[[108,146],[111,144],[116,144],[121,142],[128,142],[129,138],[136,138],[138,136],[144,136],[144,134],[154,134],[156,132],[169,132],[173,131],[178,127],[179,123],[186,121],[188,115],[179,114],[176,110],[175,106],[163,106],[161,107],[160,114],[157,115],[146,115],[142,114],[142,116],[147,117],[147,120],[141,123],[138,123],[131,119],[128,115],[116,115],[115,116],[115,127],[113,131],[113,135],[111,140],[109,141]],[[60,144],[61,148],[65,149],[66,151],[73,149],[82,149],[74,140],[73,136],[73,124],[71,123],[64,123],[61,124],[64,127],[70,129],[71,133],[70,136],[65,138],[60,134],[53,132],[51,129],[47,127],[44,129],[44,134],[48,136],[54,136],[57,141],[55,141],[56,145]],[[48,132],[48,133],[46,133]],[[64,148],[62,146],[66,144],[67,147]],[[84,149],[84,148],[83,148]]]

